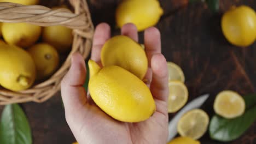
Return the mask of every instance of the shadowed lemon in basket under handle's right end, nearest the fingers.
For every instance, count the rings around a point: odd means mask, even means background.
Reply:
[[[59,52],[67,52],[73,43],[72,29],[64,26],[44,27],[43,41],[53,45]]]

